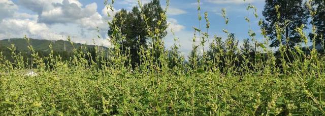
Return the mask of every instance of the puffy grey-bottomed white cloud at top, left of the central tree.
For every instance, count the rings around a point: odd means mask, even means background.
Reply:
[[[27,1],[39,1],[44,0],[27,0]],[[97,4],[92,3],[82,8],[82,4],[77,0],[50,0],[51,4],[43,4],[42,9],[39,12],[39,23],[45,24],[77,24],[81,28],[87,30],[96,30],[96,27],[107,31],[107,25],[105,25],[104,18],[97,12]]]

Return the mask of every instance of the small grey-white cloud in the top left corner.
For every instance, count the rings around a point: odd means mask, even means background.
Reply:
[[[18,6],[9,0],[0,0],[0,22],[4,18],[12,17]]]

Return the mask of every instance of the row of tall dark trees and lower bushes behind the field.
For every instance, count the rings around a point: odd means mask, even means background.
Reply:
[[[276,11],[276,6],[280,6],[278,11]],[[298,27],[303,26],[303,29],[307,29],[308,25],[314,25],[314,33],[309,34],[310,40],[315,39],[316,45],[322,45],[325,40],[325,3],[323,0],[312,1],[309,5],[312,11],[317,12],[316,14],[311,14],[310,8],[308,8],[307,2],[303,0],[266,0],[265,7],[263,11],[263,24],[262,28],[269,40],[271,40],[270,47],[279,47],[280,43],[283,44],[286,49],[294,49],[298,43],[302,40],[301,35],[296,30]],[[140,64],[140,48],[143,46],[144,49],[149,49],[150,41],[148,32],[154,32],[155,27],[159,26],[160,29],[164,31],[158,34],[159,38],[164,38],[167,34],[166,29],[168,23],[166,20],[161,18],[161,13],[165,13],[163,8],[161,8],[159,0],[153,0],[152,2],[145,4],[143,7],[134,7],[132,11],[126,11],[122,9],[114,16],[111,23],[113,26],[110,27],[108,34],[111,38],[115,35],[111,35],[114,28],[120,29],[123,35],[122,41],[120,41],[121,49],[126,52],[129,49],[131,53],[132,65],[135,66]],[[278,13],[280,15],[278,16]],[[141,15],[147,16],[144,19]],[[161,21],[160,25],[157,25],[157,21]],[[276,32],[275,28],[279,26],[281,28],[281,34]],[[151,30],[151,31],[147,31]],[[317,34],[315,34],[317,33]],[[316,35],[314,37],[314,35]],[[280,36],[281,39],[277,39]],[[122,37],[122,36],[121,36]],[[218,55],[217,59],[222,61],[223,55],[239,55],[241,54],[240,60],[243,62],[243,55],[249,57],[249,59],[255,59],[256,56],[265,56],[265,53],[256,54],[256,44],[251,45],[250,39],[244,39],[243,46],[238,50],[238,41],[235,38],[235,34],[229,34],[225,41],[222,41],[221,37],[215,37],[214,41],[209,45],[210,50],[199,56],[197,51],[191,51],[188,56],[188,63],[197,61],[199,63],[203,55],[206,55],[207,60],[213,60]],[[169,50],[169,60],[170,67],[173,67],[183,56],[179,53],[179,48],[175,44]],[[214,52],[214,53],[212,53]],[[201,57],[201,58],[200,58]],[[289,59],[288,59],[289,60]],[[238,60],[239,61],[239,60]],[[222,64],[222,63],[220,63]]]

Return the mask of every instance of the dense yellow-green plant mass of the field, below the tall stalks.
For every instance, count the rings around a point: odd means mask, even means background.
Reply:
[[[1,76],[0,112],[11,115],[321,115],[324,77],[64,68]],[[240,80],[240,78],[243,78]]]

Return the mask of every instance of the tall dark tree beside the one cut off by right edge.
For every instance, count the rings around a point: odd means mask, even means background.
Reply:
[[[265,17],[263,27],[272,40],[271,47],[278,47],[280,41],[276,38],[276,24],[282,29],[281,42],[283,45],[293,47],[301,41],[300,35],[295,31],[308,21],[307,9],[303,0],[266,0],[263,11]],[[278,19],[275,6],[279,5],[280,17]]]

